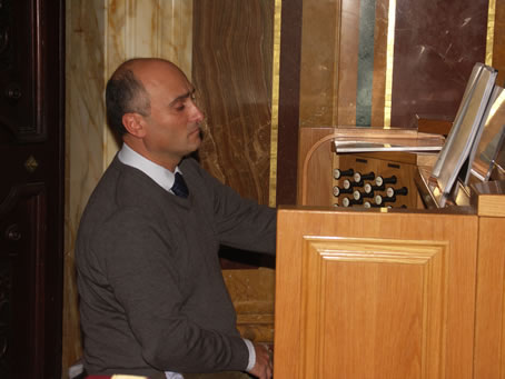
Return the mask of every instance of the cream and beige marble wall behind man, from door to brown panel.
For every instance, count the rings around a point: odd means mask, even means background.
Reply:
[[[105,86],[123,60],[160,57],[191,72],[192,1],[67,1],[67,172],[62,378],[82,353],[73,243],[88,198],[118,150]]]

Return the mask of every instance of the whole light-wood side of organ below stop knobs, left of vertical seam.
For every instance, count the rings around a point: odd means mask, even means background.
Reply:
[[[472,378],[477,223],[279,210],[275,378]]]

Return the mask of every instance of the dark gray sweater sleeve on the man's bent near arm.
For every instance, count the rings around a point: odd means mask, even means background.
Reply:
[[[178,372],[247,367],[241,338],[202,329],[185,313],[177,255],[160,227],[128,210],[110,219],[101,237],[102,269],[149,365]]]

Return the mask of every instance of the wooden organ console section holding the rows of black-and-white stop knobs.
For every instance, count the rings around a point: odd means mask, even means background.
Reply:
[[[397,150],[396,142],[400,144]],[[414,129],[303,128],[297,202],[345,208],[418,208],[422,203],[415,183],[418,168],[433,164],[443,143],[442,136]],[[383,144],[386,148],[380,149]]]

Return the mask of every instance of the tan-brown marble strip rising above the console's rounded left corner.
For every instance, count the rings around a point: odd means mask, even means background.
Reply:
[[[336,122],[339,14],[340,1],[304,1],[299,116],[301,128],[331,126]]]

